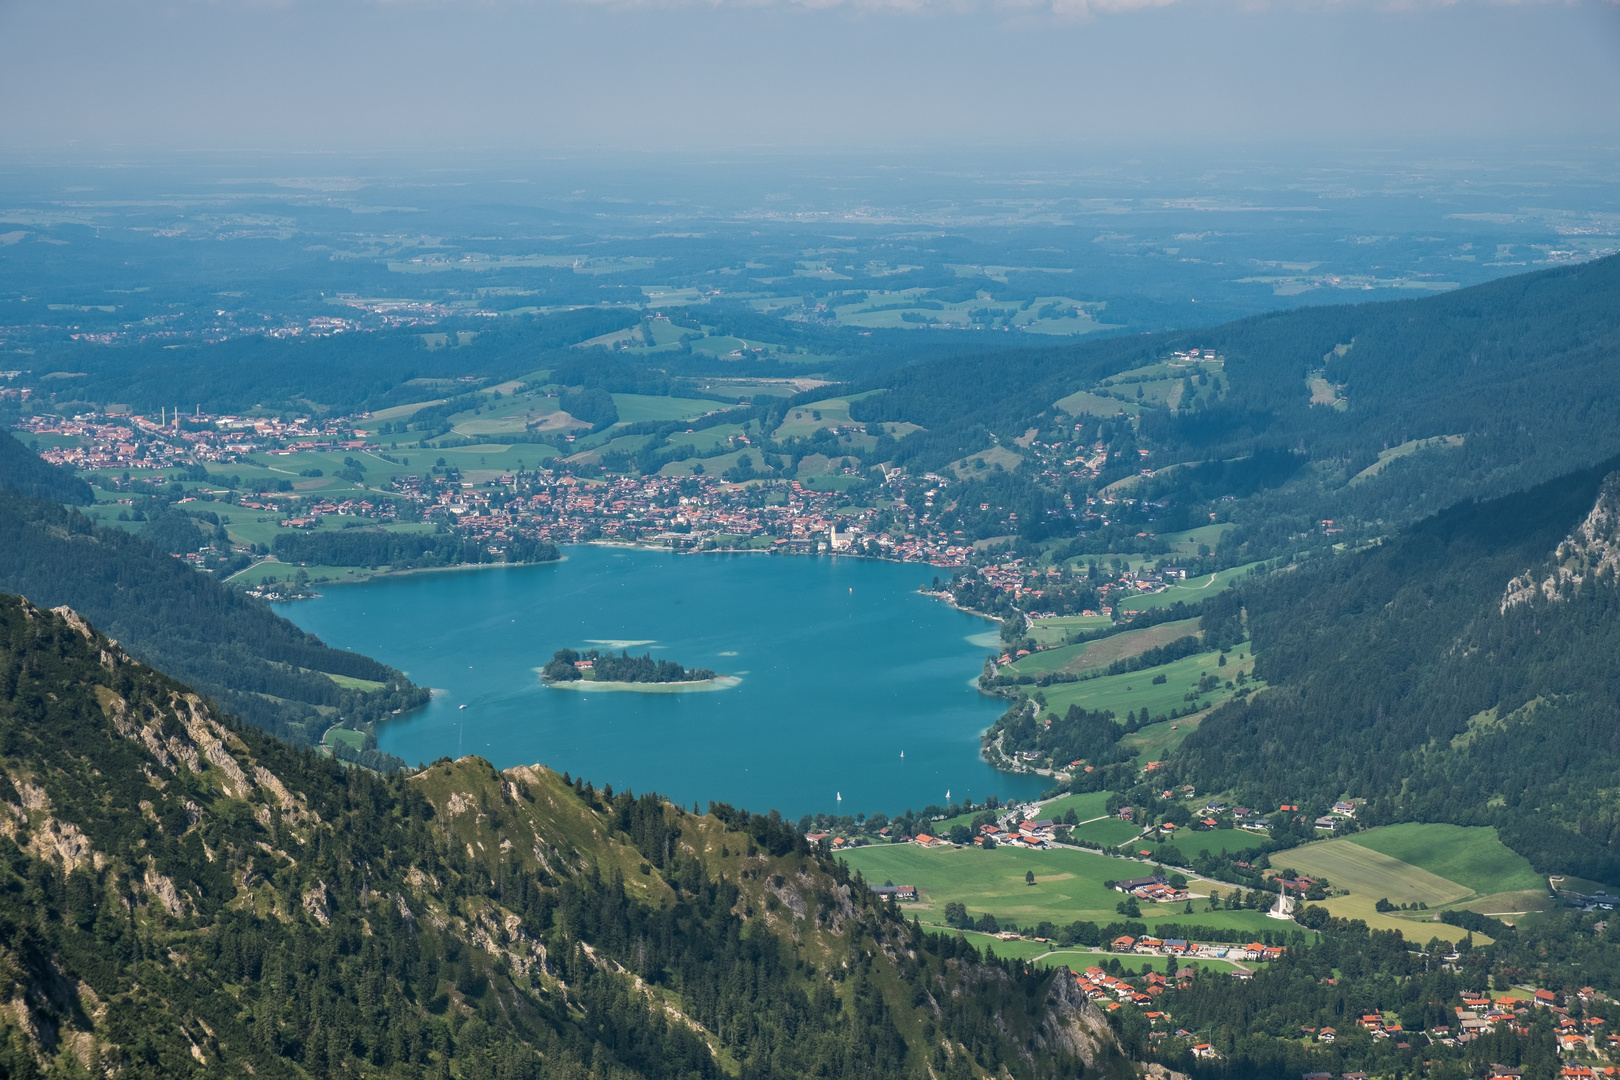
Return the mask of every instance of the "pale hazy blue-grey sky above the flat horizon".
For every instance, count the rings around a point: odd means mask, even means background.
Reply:
[[[1620,3],[0,0],[0,146],[1620,144]]]

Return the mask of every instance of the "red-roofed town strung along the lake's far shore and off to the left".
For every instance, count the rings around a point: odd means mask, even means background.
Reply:
[[[272,512],[284,528],[316,528],[327,515],[376,525],[437,521],[492,547],[522,536],[552,544],[603,541],[684,552],[831,552],[943,570],[964,570],[977,562],[982,565],[977,585],[1003,597],[995,606],[1021,609],[1050,602],[1058,596],[1050,589],[1066,585],[1058,572],[1032,570],[1024,559],[975,559],[975,544],[962,529],[941,528],[935,500],[959,483],[951,476],[909,476],[893,468],[865,505],[841,492],[847,484],[781,478],[734,483],[701,473],[596,476],[590,470],[575,474],[577,470],[562,465],[486,473],[488,478],[473,481],[446,465],[444,457],[433,466],[408,470],[356,427],[361,423],[368,421],[209,416],[167,408],[152,418],[109,406],[107,413],[75,418],[26,418],[18,431],[42,439],[39,453],[47,461],[92,474],[97,486],[125,495],[117,499],[125,505],[134,505],[141,495],[180,495]],[[329,468],[358,491],[327,494],[324,489],[334,481],[322,470],[279,463],[296,455],[345,455],[342,465]],[[1071,465],[1085,461],[1077,458]],[[183,491],[177,492],[175,484]],[[1084,515],[1106,523],[1115,502],[1087,499]],[[1105,599],[1136,596],[1158,591],[1178,576],[1186,572],[1123,567],[1089,588]],[[1053,614],[1043,610],[1034,617]],[[1113,604],[1089,607],[1085,614],[1111,615]]]

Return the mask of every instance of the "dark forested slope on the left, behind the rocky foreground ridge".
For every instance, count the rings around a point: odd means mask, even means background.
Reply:
[[[319,742],[339,721],[364,727],[428,699],[403,674],[329,648],[147,539],[10,491],[0,491],[0,591],[84,612],[133,656],[293,743]],[[377,687],[345,687],[332,675]]]

